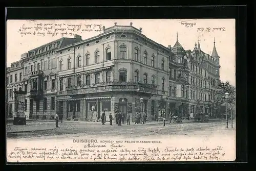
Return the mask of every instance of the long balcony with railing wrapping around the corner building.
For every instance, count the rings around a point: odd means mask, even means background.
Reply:
[[[101,83],[94,86],[76,86],[68,88],[66,91],[60,91],[58,94],[76,95],[83,93],[95,93],[105,91],[136,91],[136,92],[147,92],[156,93],[156,85],[135,83],[135,82],[112,82],[112,83]]]

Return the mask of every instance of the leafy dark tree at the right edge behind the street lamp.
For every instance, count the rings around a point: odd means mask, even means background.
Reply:
[[[227,82],[220,82],[218,85],[218,90],[216,91],[217,99],[216,104],[221,105],[226,103],[225,93],[229,93],[229,98],[227,100],[228,104],[235,105],[236,103],[236,87],[231,85],[228,81]]]

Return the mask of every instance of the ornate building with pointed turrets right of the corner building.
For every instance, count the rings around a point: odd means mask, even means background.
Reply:
[[[175,97],[172,92],[177,94],[176,99],[174,98],[176,106],[170,106],[170,109],[175,108],[176,113],[181,113],[185,117],[188,115],[194,117],[198,112],[217,114],[215,100],[220,80],[220,57],[215,42],[211,56],[201,50],[199,41],[192,52],[185,51],[178,41],[178,36],[171,50],[169,86],[170,89],[173,88],[172,86],[174,88],[170,91],[170,99]]]

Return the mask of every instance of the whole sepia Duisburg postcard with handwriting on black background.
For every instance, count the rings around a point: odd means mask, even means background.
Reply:
[[[7,20],[7,162],[234,161],[235,22]]]

